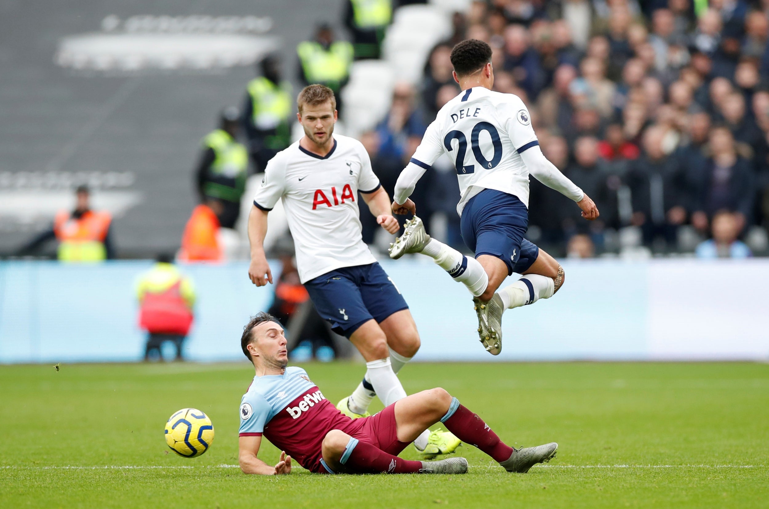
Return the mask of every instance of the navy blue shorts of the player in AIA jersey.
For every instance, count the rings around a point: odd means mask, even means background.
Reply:
[[[348,339],[368,320],[384,321],[408,309],[400,290],[379,263],[342,267],[305,283],[315,309],[331,329]]]

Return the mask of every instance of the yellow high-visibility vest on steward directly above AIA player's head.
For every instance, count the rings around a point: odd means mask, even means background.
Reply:
[[[331,43],[328,51],[315,41],[304,41],[296,48],[305,71],[305,78],[310,83],[325,84],[338,92],[341,81],[348,77],[352,63],[353,50],[348,41]]]

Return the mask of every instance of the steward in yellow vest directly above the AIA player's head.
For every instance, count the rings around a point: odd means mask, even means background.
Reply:
[[[318,26],[315,40],[300,42],[296,48],[299,55],[299,81],[303,85],[322,84],[334,91],[337,111],[341,112],[341,94],[350,79],[350,65],[353,48],[348,41],[335,41],[334,31],[329,25]]]

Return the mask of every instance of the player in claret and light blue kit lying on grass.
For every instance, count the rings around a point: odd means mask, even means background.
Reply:
[[[290,474],[291,458],[320,474],[464,474],[464,458],[398,458],[409,442],[438,421],[511,472],[526,472],[558,450],[555,443],[519,450],[505,445],[478,415],[442,388],[406,396],[377,415],[351,419],[328,402],[304,369],[286,367],[283,328],[267,313],[258,313],[245,326],[241,348],[256,370],[240,407],[238,460],[246,474]],[[283,451],[274,467],[257,458],[262,436]]]

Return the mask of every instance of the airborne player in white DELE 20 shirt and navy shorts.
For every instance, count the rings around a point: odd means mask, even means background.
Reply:
[[[598,208],[544,157],[521,98],[491,91],[494,70],[488,44],[475,39],[460,42],[451,51],[451,64],[462,91],[438,111],[424,133],[414,157],[398,177],[392,209],[399,214],[416,213],[414,202],[408,199],[414,185],[447,152],[455,161],[459,179],[457,211],[462,238],[475,258],[431,239],[416,216],[391,245],[390,256],[397,259],[404,253],[423,253],[464,283],[473,295],[481,343],[498,355],[504,310],[548,299],[564,283],[563,267],[524,239],[529,174],[574,200],[587,220],[598,217]],[[497,293],[512,273],[523,276]]]

